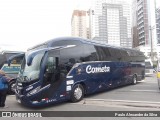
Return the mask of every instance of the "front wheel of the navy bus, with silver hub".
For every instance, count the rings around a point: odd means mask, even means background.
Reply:
[[[81,84],[77,84],[73,87],[71,92],[71,101],[78,102],[84,97],[84,88]]]

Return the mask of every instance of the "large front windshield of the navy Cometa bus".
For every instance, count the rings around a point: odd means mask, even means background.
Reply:
[[[43,56],[44,52],[36,54],[32,60],[32,64],[28,66],[26,64],[28,54],[26,54],[21,65],[21,70],[18,75],[18,80],[21,82],[38,80]]]

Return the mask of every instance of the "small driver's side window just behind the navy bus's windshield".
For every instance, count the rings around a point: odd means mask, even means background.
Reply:
[[[56,69],[56,59],[55,57],[48,57],[47,66],[46,66],[47,73],[53,73]]]

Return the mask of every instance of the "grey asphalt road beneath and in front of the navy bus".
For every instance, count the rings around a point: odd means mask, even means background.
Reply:
[[[9,107],[0,109],[0,111],[160,111],[160,92],[157,86],[156,75],[152,75],[146,77],[145,80],[139,82],[137,85],[127,85],[89,95],[78,103],[64,102],[45,108],[33,109],[22,106],[17,103],[14,95],[9,95],[7,96],[6,104]],[[129,117],[129,119],[131,118],[134,119],[135,117]],[[58,117],[57,119],[63,118]],[[118,118],[118,120],[121,119],[122,117]],[[143,119],[143,117],[139,119]],[[144,119],[147,120],[148,118]],[[158,120],[156,117],[154,119]]]

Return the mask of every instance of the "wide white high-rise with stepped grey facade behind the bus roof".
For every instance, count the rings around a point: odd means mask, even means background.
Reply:
[[[93,8],[92,39],[131,48],[130,6],[126,0],[97,0]]]

